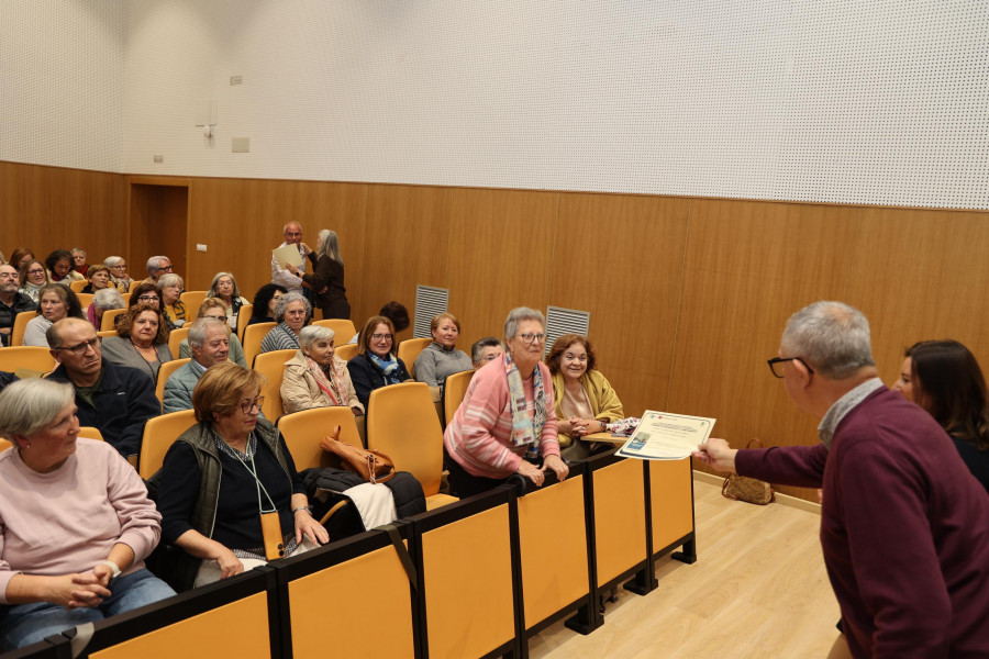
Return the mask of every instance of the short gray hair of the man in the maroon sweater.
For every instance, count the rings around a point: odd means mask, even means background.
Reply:
[[[791,315],[779,348],[787,357],[802,357],[818,373],[832,380],[876,366],[869,321],[844,302],[814,302]]]

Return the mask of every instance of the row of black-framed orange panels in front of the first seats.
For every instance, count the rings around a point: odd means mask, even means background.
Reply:
[[[398,537],[367,532],[97,623],[73,656],[527,657],[558,619],[603,625],[600,597],[626,580],[654,590],[674,548],[696,559],[690,468],[593,456],[564,482],[502,485],[399,522]],[[15,656],[66,656],[73,636]]]

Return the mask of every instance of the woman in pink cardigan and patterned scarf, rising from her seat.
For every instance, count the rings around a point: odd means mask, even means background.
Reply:
[[[552,469],[569,473],[559,457],[549,369],[540,361],[546,321],[520,306],[504,322],[508,351],[481,367],[443,434],[449,484],[462,499],[485,492],[513,473],[542,485]]]

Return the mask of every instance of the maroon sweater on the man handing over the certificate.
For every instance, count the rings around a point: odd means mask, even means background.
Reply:
[[[735,466],[824,488],[821,546],[853,656],[989,657],[989,496],[926,412],[882,388],[830,453],[741,450]]]

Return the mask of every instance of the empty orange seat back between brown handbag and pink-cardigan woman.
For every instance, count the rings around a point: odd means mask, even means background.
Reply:
[[[422,484],[426,496],[440,491],[443,432],[430,388],[402,382],[371,392],[367,405],[367,447],[395,460]]]

